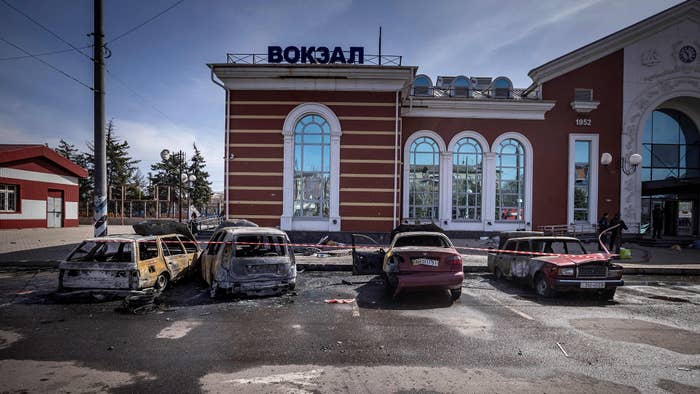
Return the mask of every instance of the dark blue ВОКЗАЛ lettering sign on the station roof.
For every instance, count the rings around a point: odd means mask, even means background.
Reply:
[[[347,56],[346,56],[347,54]],[[291,64],[364,64],[365,48],[350,47],[349,51],[343,51],[341,47],[330,50],[328,47],[294,47],[284,49],[280,46],[267,47],[267,62]]]

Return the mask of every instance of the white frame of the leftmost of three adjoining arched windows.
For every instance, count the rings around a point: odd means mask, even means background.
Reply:
[[[410,189],[410,167],[411,167],[411,145],[418,139],[422,137],[428,137],[432,138],[433,141],[438,145],[438,152],[440,154],[440,169],[439,169],[439,174],[440,174],[440,184],[438,187],[438,223],[435,223],[437,225],[440,225],[440,223],[444,223],[446,218],[449,218],[452,216],[450,213],[448,213],[448,216],[445,217],[445,208],[446,204],[445,202],[445,187],[444,187],[444,179],[445,179],[445,169],[447,168],[446,165],[446,160],[452,160],[452,156],[449,156],[447,154],[447,149],[445,147],[445,141],[443,141],[442,137],[434,131],[430,130],[420,130],[416,131],[415,133],[411,134],[410,137],[406,140],[406,144],[404,145],[404,160],[403,160],[403,221],[402,223],[415,223],[416,218],[409,218],[409,204],[410,204],[410,196],[409,196],[409,190]],[[450,175],[450,179],[452,179],[452,176]],[[452,196],[450,196],[452,198]],[[450,211],[452,210],[452,203],[450,205]],[[426,221],[427,219],[418,219],[421,220],[421,223]]]

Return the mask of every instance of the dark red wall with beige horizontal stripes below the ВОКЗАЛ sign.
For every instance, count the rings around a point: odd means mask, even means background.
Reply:
[[[339,118],[342,231],[393,226],[394,92],[230,91],[229,215],[279,226],[283,123],[296,106],[320,103]],[[398,212],[398,210],[397,210]]]

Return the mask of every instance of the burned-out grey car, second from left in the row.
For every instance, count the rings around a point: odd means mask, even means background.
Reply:
[[[200,258],[211,295],[272,295],[293,290],[296,263],[287,233],[266,227],[224,227]]]

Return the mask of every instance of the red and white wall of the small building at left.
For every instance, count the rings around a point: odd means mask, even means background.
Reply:
[[[44,159],[0,167],[0,183],[19,188],[18,211],[0,213],[0,229],[47,227],[47,199],[63,198],[63,227],[78,226],[78,178]]]

